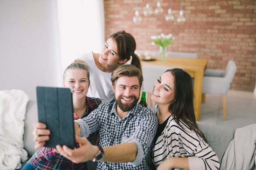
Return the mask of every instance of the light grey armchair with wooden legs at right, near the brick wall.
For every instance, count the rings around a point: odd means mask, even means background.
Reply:
[[[222,95],[223,120],[226,120],[226,95],[231,82],[236,74],[236,63],[229,60],[225,71],[206,69],[203,78],[202,103],[205,102],[205,94]]]

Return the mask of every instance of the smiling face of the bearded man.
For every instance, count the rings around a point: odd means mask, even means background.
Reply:
[[[132,110],[139,101],[140,88],[137,76],[119,77],[115,82],[115,86],[112,86],[112,89],[115,93],[117,105],[123,112]]]

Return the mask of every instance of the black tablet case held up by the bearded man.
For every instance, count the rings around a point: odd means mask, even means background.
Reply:
[[[72,92],[70,88],[36,87],[38,121],[51,131],[45,146],[75,147]]]

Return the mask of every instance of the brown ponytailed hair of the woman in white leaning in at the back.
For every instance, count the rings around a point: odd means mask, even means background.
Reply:
[[[117,42],[117,54],[120,56],[121,60],[130,60],[130,57],[132,56],[131,64],[141,70],[139,56],[134,53],[136,42],[132,34],[122,30],[112,33],[108,38],[113,38]]]

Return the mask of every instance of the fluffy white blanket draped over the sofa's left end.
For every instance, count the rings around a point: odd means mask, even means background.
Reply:
[[[0,170],[19,169],[27,160],[23,134],[28,102],[24,91],[0,91]]]

